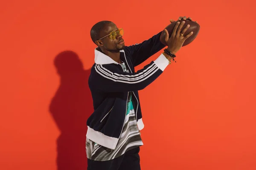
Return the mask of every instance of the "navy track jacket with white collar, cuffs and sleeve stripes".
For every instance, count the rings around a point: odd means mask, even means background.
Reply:
[[[137,72],[134,67],[163,49],[160,33],[140,44],[125,46],[120,59],[125,62],[129,73],[122,65],[95,49],[95,64],[88,80],[93,98],[94,112],[87,119],[86,137],[97,144],[115,149],[125,121],[128,93],[133,94],[134,110],[139,130],[144,127],[138,91],[153,82],[169,64],[161,54],[156,60]]]

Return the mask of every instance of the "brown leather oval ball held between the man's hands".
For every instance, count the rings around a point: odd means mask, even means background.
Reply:
[[[180,21],[180,23],[182,22],[183,20]],[[167,31],[169,32],[169,37],[171,37],[172,35],[172,32],[173,32],[173,28],[175,27],[176,23],[178,21],[175,21],[171,24],[169,24],[165,29],[167,29]],[[185,45],[188,45],[190,44],[192,41],[195,40],[195,38],[197,37],[198,33],[199,33],[199,30],[200,30],[200,25],[194,21],[191,21],[191,20],[186,20],[184,26],[181,28],[181,31],[187,26],[187,25],[190,25],[189,29],[185,32],[184,36],[186,36],[187,34],[189,34],[189,32],[193,31],[193,34],[185,40],[185,42],[183,43],[182,46],[185,46]],[[160,35],[160,41],[164,44],[164,45],[167,45],[166,42],[165,42],[165,31],[163,30],[162,34]]]

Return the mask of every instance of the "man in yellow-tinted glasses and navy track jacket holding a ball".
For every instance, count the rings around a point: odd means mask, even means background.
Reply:
[[[140,44],[125,46],[123,29],[114,23],[101,21],[92,27],[91,38],[98,47],[88,81],[94,112],[87,120],[87,170],[140,170],[144,124],[138,91],[163,73],[193,34],[183,36],[189,26],[181,30],[181,19],[186,17],[179,18],[170,38],[165,29],[168,48],[137,72],[135,66],[165,47],[160,42],[162,31]]]

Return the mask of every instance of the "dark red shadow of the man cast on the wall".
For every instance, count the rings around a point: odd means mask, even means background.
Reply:
[[[49,109],[61,131],[57,143],[58,170],[86,170],[86,121],[93,113],[88,86],[90,70],[84,70],[79,56],[63,51],[54,59],[61,83]]]

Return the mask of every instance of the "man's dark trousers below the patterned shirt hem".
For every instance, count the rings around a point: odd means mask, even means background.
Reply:
[[[140,170],[140,147],[109,161],[88,160],[87,170]]]

